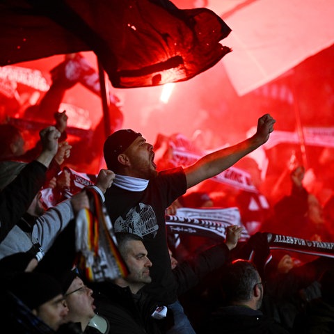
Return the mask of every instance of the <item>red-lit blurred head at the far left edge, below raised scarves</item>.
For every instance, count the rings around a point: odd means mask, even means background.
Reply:
[[[19,157],[24,154],[24,138],[17,127],[0,124],[0,157]]]

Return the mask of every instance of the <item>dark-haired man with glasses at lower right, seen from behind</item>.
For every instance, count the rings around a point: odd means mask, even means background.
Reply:
[[[264,283],[252,262],[238,259],[227,264],[220,283],[223,306],[212,313],[200,333],[289,333],[260,310]]]

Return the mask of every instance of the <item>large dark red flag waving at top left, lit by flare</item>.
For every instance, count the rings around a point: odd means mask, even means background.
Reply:
[[[92,50],[116,88],[188,80],[231,51],[212,10],[168,0],[4,0],[0,29],[0,65]]]

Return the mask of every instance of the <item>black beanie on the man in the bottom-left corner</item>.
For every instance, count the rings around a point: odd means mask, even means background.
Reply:
[[[31,310],[54,299],[58,294],[63,295],[61,285],[56,278],[47,273],[31,272],[17,273],[8,282],[8,290],[13,292]]]

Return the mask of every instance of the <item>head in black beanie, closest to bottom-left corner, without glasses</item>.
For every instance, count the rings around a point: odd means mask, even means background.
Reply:
[[[65,323],[68,308],[55,278],[40,272],[17,273],[8,281],[8,291],[54,331]]]

